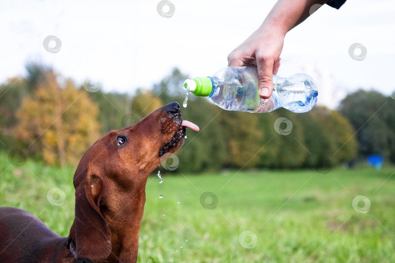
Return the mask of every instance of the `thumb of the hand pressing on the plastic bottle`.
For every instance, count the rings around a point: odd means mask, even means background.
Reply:
[[[273,93],[273,63],[257,63],[259,97],[267,99]]]

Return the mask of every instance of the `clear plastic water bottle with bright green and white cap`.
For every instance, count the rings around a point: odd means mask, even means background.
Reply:
[[[212,77],[187,79],[183,87],[187,95],[209,97],[222,109],[251,113],[268,113],[280,107],[305,113],[314,107],[318,95],[316,82],[309,75],[273,75],[273,94],[261,99],[256,67],[226,67]]]

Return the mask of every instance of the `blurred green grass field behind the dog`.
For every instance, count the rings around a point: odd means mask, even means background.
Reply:
[[[395,262],[394,167],[160,170],[162,184],[154,175],[147,182],[138,262]],[[14,167],[0,155],[0,206],[26,209],[67,236],[73,175],[29,160]]]

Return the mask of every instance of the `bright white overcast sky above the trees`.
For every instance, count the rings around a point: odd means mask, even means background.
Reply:
[[[159,16],[158,2],[1,1],[0,83],[25,75],[27,61],[52,65],[77,84],[91,80],[105,92],[130,94],[152,87],[174,67],[191,77],[213,75],[276,0],[171,0],[170,18]],[[58,53],[44,49],[48,35],[61,40]],[[353,43],[366,47],[362,61],[349,56]],[[281,57],[278,75],[312,75],[321,105],[334,108],[357,88],[390,95],[395,1],[348,0],[339,10],[324,5],[288,33]]]

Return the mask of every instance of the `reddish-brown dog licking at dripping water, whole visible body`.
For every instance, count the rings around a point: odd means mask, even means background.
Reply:
[[[136,262],[148,175],[181,147],[186,127],[198,131],[173,102],[95,142],[74,174],[68,238],[24,210],[0,207],[0,263]]]

